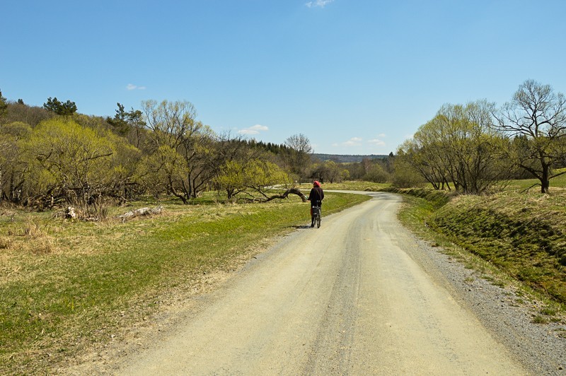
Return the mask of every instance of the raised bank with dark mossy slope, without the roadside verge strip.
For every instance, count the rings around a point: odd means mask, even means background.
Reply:
[[[458,196],[430,223],[509,276],[566,304],[566,194]]]

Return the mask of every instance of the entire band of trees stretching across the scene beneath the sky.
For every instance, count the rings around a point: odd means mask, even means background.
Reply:
[[[145,100],[130,110],[117,103],[114,117],[97,117],[77,112],[71,100],[48,98],[37,107],[0,92],[0,202],[92,210],[141,194],[188,204],[209,190],[265,201],[270,187],[312,179],[481,194],[532,177],[548,193],[565,173],[566,99],[528,80],[501,107],[487,100],[443,105],[395,155],[337,163],[312,153],[303,134],[280,145],[216,134],[187,101]]]

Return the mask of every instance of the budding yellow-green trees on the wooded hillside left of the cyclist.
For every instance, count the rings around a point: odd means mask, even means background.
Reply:
[[[312,151],[303,134],[282,145],[216,134],[187,101],[146,100],[139,110],[117,103],[114,117],[96,117],[71,100],[34,107],[0,93],[0,202],[21,206],[97,211],[141,194],[188,204],[208,190],[265,201],[273,186],[347,175],[333,163],[313,168]]]

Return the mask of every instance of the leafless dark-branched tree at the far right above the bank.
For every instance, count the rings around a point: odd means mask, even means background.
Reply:
[[[553,170],[566,160],[565,96],[527,80],[494,116],[492,126],[512,141],[509,158],[540,181],[542,193],[548,193],[550,179],[565,173]]]

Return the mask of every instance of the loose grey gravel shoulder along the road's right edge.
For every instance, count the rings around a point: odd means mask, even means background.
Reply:
[[[470,310],[533,375],[566,375],[566,319],[545,324],[533,322],[543,303],[527,297],[512,284],[496,286],[480,272],[443,253],[441,247],[415,236],[410,251],[417,264],[454,299]]]

